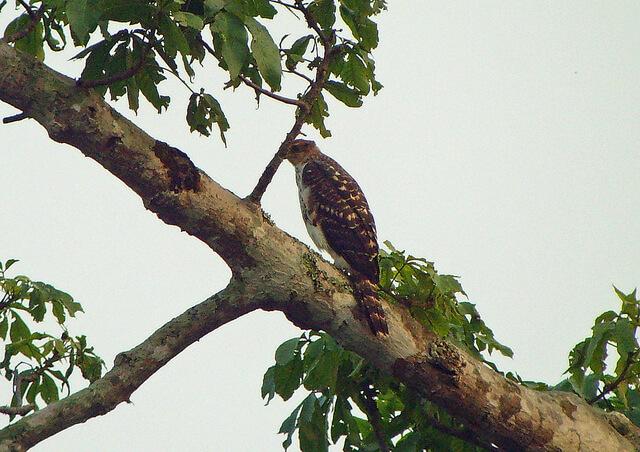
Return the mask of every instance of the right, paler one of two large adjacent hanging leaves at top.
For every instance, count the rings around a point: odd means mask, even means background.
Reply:
[[[260,75],[274,91],[280,90],[282,66],[280,51],[267,29],[252,17],[244,19],[251,33],[251,51],[258,64]]]

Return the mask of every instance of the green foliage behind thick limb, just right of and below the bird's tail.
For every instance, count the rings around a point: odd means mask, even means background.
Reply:
[[[380,256],[380,295],[409,307],[420,323],[453,340],[488,365],[483,352],[511,356],[464,295],[457,277],[441,275],[433,263],[406,255],[386,242]],[[275,364],[265,373],[262,396],[288,400],[308,392],[282,423],[286,449],[298,431],[302,450],[327,450],[344,440],[344,450],[380,450],[380,441],[398,451],[482,450],[465,427],[411,388],[380,374],[357,354],[344,350],[325,333],[310,331],[281,344]],[[384,440],[382,439],[384,438]]]

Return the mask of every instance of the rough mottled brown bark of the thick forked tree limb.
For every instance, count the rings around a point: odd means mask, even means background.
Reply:
[[[73,80],[1,42],[0,100],[38,121],[53,140],[96,160],[163,221],[220,254],[233,270],[235,294],[233,302],[218,296],[212,313],[199,309],[203,305],[187,311],[117,360],[100,381],[0,432],[0,449],[23,450],[66,428],[54,413],[64,412],[69,425],[104,414],[197,337],[255,308],[280,310],[302,328],[327,331],[501,448],[627,451],[640,444],[630,423],[619,417],[610,421],[571,394],[516,385],[425,331],[400,306],[385,306],[390,334],[374,337],[333,266],[198,170],[186,154],[154,140]],[[172,329],[176,321],[185,328],[180,335]]]

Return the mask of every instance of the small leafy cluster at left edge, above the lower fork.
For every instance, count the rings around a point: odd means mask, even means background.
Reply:
[[[85,336],[67,331],[68,316],[83,312],[80,303],[49,284],[22,275],[9,278],[6,273],[16,262],[0,262],[0,339],[5,342],[0,368],[12,383],[10,406],[26,403],[37,409],[58,400],[61,391],[70,392],[74,371],[93,382],[104,363]],[[59,335],[34,331],[33,323],[53,319],[61,327]]]

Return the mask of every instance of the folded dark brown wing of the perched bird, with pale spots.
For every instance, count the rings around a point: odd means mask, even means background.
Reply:
[[[311,189],[312,216],[327,244],[354,270],[377,284],[376,225],[358,183],[325,155],[304,166],[302,182]]]

